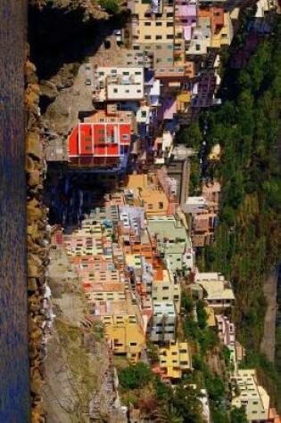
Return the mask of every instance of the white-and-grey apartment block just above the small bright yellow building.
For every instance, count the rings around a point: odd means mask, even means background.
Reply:
[[[176,336],[177,313],[175,305],[168,301],[153,301],[153,317],[148,335],[153,342],[167,343]]]

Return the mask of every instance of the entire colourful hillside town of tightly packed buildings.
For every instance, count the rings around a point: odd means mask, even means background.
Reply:
[[[278,423],[257,371],[243,366],[232,281],[219,270],[202,272],[197,263],[216,237],[222,186],[205,178],[202,167],[219,162],[220,146],[205,157],[203,140],[198,151],[177,138],[181,126],[222,102],[221,57],[243,5],[129,0],[126,26],[79,68],[79,110],[70,110],[67,138],[48,137],[46,166],[56,177],[46,181],[46,201],[52,248],[63,251],[78,275],[88,321],[103,324],[112,367],[116,357],[128,366],[145,362],[163,384],[188,384],[198,365],[188,321],[205,313],[206,327],[229,354],[230,409],[244,408],[251,423]],[[274,0],[257,2],[234,69],[243,68],[260,37],[270,34],[270,12],[277,7]],[[198,155],[194,194],[191,163]],[[200,401],[204,421],[216,423],[208,389],[201,389]],[[134,405],[122,410],[120,422],[151,421]]]

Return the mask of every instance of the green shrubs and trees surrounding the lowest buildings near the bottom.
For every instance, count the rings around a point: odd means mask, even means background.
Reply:
[[[186,372],[177,386],[168,386],[144,362],[117,364],[120,395],[134,404],[142,417],[157,423],[203,423],[202,389],[208,392],[212,421],[246,423],[244,410],[230,410],[229,351],[219,345],[215,329],[208,327],[202,300],[182,296],[180,339],[187,339],[193,351],[193,371]],[[158,362],[157,346],[147,343],[152,364]],[[214,365],[212,363],[215,363]]]

